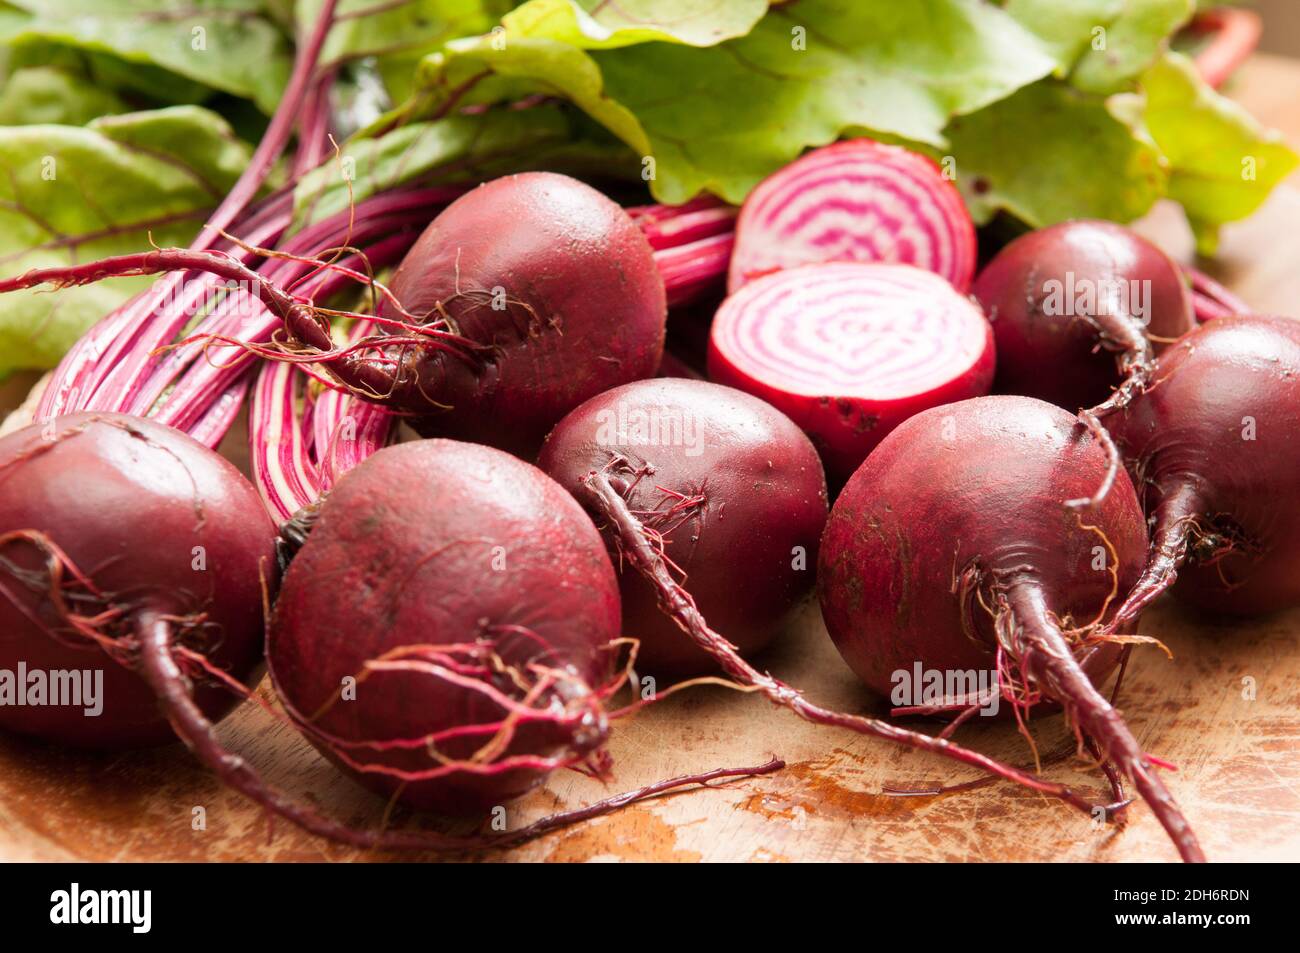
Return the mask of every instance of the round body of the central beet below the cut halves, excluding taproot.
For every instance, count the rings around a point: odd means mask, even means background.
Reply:
[[[660,378],[584,403],[546,438],[537,463],[581,498],[590,471],[616,460],[628,471],[628,506],[660,534],[699,611],[744,655],[763,649],[812,590],[827,498],[807,437],[749,394]],[[638,672],[716,671],[632,567],[621,590],[623,632],[641,640]]]

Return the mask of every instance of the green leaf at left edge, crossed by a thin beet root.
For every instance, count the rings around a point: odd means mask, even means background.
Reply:
[[[250,150],[202,107],[170,107],[84,127],[0,130],[0,269],[87,261],[187,244],[229,191]],[[94,321],[152,278],[49,294],[16,291],[0,307],[0,377],[51,367]]]

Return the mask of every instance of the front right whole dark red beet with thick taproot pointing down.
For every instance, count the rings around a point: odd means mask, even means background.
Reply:
[[[1092,681],[1117,660],[1119,647],[1102,641],[1108,607],[1147,551],[1123,476],[1098,507],[1066,504],[1088,497],[1108,468],[1079,420],[1041,400],[988,397],[924,411],[876,447],[836,501],[818,568],[822,611],[875,692],[888,694],[893,673],[919,663],[1002,670],[1004,697],[1027,690],[1060,702],[1134,779],[1184,859],[1202,859]]]

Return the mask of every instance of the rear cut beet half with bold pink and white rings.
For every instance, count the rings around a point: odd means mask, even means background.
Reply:
[[[883,261],[924,268],[966,291],[975,257],[970,213],[931,159],[848,139],[809,152],[750,192],[727,290],[796,265]]]

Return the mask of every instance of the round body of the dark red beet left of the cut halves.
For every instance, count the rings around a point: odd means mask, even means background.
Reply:
[[[451,203],[393,278],[413,315],[490,350],[477,360],[404,348],[390,403],[426,434],[534,452],[573,407],[650,377],[663,354],[663,280],[650,243],[615,202],[532,172]],[[389,306],[381,308],[389,317]],[[358,368],[334,365],[344,381]],[[448,410],[443,411],[439,404]],[[468,412],[465,412],[468,411]]]

